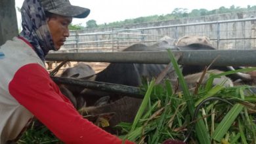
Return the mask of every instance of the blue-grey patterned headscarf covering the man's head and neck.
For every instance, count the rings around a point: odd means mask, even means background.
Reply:
[[[22,9],[21,37],[28,40],[44,62],[49,50],[56,50],[49,31],[45,10],[39,0],[25,0]]]

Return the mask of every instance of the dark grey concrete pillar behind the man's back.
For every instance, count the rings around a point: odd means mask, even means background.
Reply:
[[[18,35],[15,0],[0,0],[0,45]]]

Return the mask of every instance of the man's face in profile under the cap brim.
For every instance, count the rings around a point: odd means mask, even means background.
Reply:
[[[71,24],[72,18],[66,16],[60,16],[53,14],[48,20],[48,26],[53,37],[53,43],[57,50],[60,49],[60,46],[64,45],[66,37],[70,36],[68,26]]]

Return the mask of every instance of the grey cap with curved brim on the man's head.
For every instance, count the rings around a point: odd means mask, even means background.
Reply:
[[[86,18],[90,10],[70,4],[68,0],[39,0],[43,8],[53,14],[74,18]]]

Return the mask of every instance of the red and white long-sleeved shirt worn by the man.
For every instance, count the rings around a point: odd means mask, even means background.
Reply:
[[[0,144],[15,139],[33,117],[64,143],[122,143],[77,113],[28,41],[14,37],[0,53]]]

